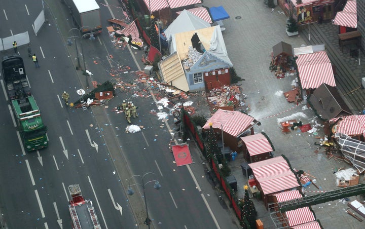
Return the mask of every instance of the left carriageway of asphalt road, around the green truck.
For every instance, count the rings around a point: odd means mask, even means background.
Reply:
[[[81,86],[52,17],[47,17],[51,25],[46,24],[35,36],[31,22],[41,11],[41,4],[29,1],[27,10],[20,1],[2,3],[2,6],[1,36],[28,30],[32,50],[39,58],[41,68],[36,69],[27,56],[26,47],[18,47],[50,140],[46,149],[22,151],[9,101],[2,90],[0,200],[7,227],[69,228],[67,186],[73,183],[79,183],[84,197],[93,201],[103,228],[135,227],[124,188],[119,177],[113,174],[111,157],[99,131],[94,128],[96,121],[92,112],[67,109],[59,99],[64,90],[74,92],[70,97],[77,99],[75,91]],[[46,15],[49,15],[47,9]],[[12,52],[7,50],[2,56]],[[91,124],[94,127],[90,127]]]

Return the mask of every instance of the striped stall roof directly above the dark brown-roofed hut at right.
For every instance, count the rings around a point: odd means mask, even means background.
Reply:
[[[331,61],[325,51],[297,56],[299,78],[304,90],[316,89],[322,83],[336,87]]]

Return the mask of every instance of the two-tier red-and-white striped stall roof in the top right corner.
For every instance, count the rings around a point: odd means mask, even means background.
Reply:
[[[337,12],[334,20],[335,25],[357,28],[356,1],[348,0],[343,11]]]

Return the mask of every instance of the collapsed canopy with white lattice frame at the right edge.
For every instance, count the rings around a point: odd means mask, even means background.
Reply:
[[[365,142],[342,133],[336,133],[335,138],[341,146],[342,154],[362,173],[365,170]]]

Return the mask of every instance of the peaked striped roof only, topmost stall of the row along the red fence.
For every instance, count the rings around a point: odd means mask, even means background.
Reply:
[[[213,128],[217,128],[229,135],[238,137],[241,133],[248,130],[254,123],[254,119],[240,111],[218,109],[212,117],[205,123],[203,129],[209,129],[212,123]]]

